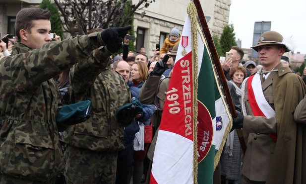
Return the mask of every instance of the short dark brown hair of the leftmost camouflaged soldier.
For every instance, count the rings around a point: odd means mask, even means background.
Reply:
[[[15,32],[18,40],[20,39],[19,31],[24,29],[31,33],[31,28],[34,26],[33,20],[50,20],[51,13],[48,9],[37,7],[22,8],[16,15]]]

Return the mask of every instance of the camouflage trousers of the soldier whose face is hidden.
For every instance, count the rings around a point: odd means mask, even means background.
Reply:
[[[118,151],[95,152],[67,146],[64,176],[67,184],[115,184]]]

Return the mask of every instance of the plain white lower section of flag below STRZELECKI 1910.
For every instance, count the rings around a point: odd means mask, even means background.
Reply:
[[[193,183],[193,167],[190,167],[193,159],[191,140],[169,131],[159,130],[155,150],[169,150],[154,154],[152,175],[158,184]]]

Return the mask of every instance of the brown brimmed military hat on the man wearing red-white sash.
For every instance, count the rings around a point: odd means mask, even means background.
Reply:
[[[283,43],[283,36],[276,31],[266,31],[262,33],[258,39],[257,45],[252,49],[258,52],[258,47],[263,45],[280,45],[286,49],[285,52],[290,52],[290,49]]]

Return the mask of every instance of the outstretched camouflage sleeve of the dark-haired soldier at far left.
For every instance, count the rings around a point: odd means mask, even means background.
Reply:
[[[10,76],[17,91],[28,91],[86,59],[103,45],[100,32],[50,42],[39,49],[4,58],[1,71],[5,72],[1,76]]]

